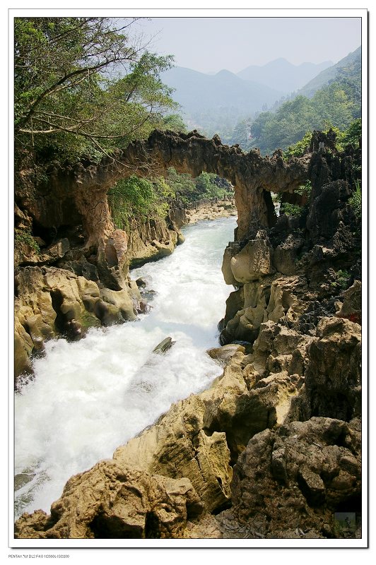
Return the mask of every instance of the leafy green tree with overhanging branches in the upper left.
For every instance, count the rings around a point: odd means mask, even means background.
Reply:
[[[16,18],[15,138],[45,157],[102,155],[142,138],[175,107],[131,20]]]

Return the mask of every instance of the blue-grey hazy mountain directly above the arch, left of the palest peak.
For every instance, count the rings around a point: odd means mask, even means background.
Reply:
[[[239,119],[271,106],[283,93],[254,81],[244,81],[230,71],[208,75],[174,67],[161,76],[163,83],[175,88],[172,97],[182,106],[190,127],[208,134],[233,129]]]

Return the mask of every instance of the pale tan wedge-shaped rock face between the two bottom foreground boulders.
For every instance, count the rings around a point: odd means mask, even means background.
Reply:
[[[203,430],[204,403],[198,396],[172,405],[153,427],[119,447],[119,465],[167,477],[188,477],[208,510],[230,499],[230,452],[223,432]]]

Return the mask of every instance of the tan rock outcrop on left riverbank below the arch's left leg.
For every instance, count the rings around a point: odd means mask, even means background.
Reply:
[[[91,326],[136,319],[141,295],[127,280],[123,290],[100,288],[93,280],[55,267],[16,270],[15,376],[30,370],[30,355],[56,335],[78,338]]]

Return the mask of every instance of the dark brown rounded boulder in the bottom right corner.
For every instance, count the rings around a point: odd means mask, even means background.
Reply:
[[[296,528],[334,537],[336,509],[359,509],[360,423],[312,417],[266,429],[238,459],[232,489],[235,516],[266,537]]]

